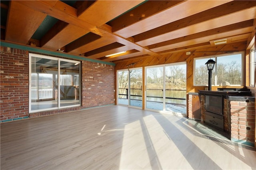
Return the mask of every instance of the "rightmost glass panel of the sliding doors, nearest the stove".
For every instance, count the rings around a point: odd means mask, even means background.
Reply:
[[[186,64],[165,67],[165,110],[186,114]]]

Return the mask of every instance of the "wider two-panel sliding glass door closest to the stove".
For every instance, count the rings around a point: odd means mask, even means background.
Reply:
[[[186,114],[186,63],[146,68],[146,109]]]

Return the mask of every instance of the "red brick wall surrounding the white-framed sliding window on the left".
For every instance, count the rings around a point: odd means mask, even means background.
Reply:
[[[1,46],[0,121],[39,117],[115,104],[115,67],[82,61],[82,106],[28,113],[28,51]]]

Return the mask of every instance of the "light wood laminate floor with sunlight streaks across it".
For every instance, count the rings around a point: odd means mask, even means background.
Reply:
[[[199,124],[124,106],[2,123],[1,170],[256,169],[253,148]]]

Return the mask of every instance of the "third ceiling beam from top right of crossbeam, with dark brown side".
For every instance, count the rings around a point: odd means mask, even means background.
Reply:
[[[245,1],[243,3],[238,3],[238,1],[228,2],[226,4],[217,6],[215,8],[211,8],[209,10],[200,12],[198,14],[188,16],[181,20],[174,21],[166,25],[162,25],[160,27],[140,33],[138,35],[134,35],[133,36],[134,42],[136,43],[139,42],[140,45],[146,46],[146,45],[152,44],[150,43],[150,41],[156,43],[155,41],[156,39],[160,39],[161,41],[166,41],[166,39],[162,39],[162,38],[168,37],[168,36],[172,37],[173,35],[168,35],[168,33],[175,30],[183,32],[181,36],[185,36],[185,35],[188,35],[191,30],[194,30],[193,33],[196,33],[195,31],[200,32],[202,29],[207,30],[209,26],[211,26],[211,29],[212,29],[212,28],[221,27],[224,25],[229,25],[232,23],[239,22],[239,21],[236,21],[237,18],[234,16],[240,16],[240,15],[246,16],[246,14],[248,14],[250,15],[250,18],[249,16],[247,16],[248,20],[253,19],[253,15],[251,12],[252,10],[246,10],[246,9],[253,8],[254,6],[256,6],[256,1]],[[242,11],[242,10],[246,10],[246,11]],[[242,12],[236,13],[239,11],[242,11]],[[241,18],[239,19],[241,20]],[[244,21],[244,20],[241,20],[241,21]],[[184,28],[187,28],[187,29],[184,29]]]

